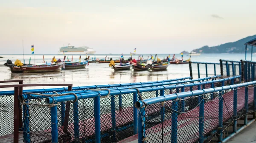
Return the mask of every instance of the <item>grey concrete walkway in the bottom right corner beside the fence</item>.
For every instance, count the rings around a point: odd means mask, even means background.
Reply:
[[[256,143],[256,122],[245,128],[227,143]]]

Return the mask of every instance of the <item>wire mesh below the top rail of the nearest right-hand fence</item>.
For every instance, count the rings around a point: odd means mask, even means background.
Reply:
[[[233,125],[233,121],[249,113],[244,110],[245,88],[145,104],[145,108],[140,109],[145,111],[145,115],[140,111],[142,118],[145,117],[142,123],[143,125],[145,123],[143,141],[147,143],[211,141],[216,135],[222,135],[221,133],[228,130]],[[249,87],[248,104],[253,103],[254,88]],[[185,90],[190,89],[185,88]],[[234,91],[237,91],[237,117],[233,116]],[[198,100],[189,101],[195,98]]]

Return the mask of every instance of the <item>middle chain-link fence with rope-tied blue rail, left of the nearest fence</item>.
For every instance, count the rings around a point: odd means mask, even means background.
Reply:
[[[53,97],[50,98],[57,104],[56,122],[52,122],[52,112],[50,111],[50,107],[52,106],[41,106],[45,105],[45,101],[42,99],[42,96],[36,98],[38,96],[29,95],[30,97],[28,97],[29,100],[27,100],[27,103],[23,102],[23,111],[26,110],[24,112],[26,115],[23,120],[24,126],[26,125],[26,128],[24,128],[26,129],[26,132],[24,133],[24,140],[30,140],[32,142],[48,142],[52,139],[52,123],[56,123],[58,129],[57,140],[61,143],[66,143],[68,140],[73,142],[96,142],[95,98],[100,95],[102,97],[99,100],[101,142],[118,142],[126,137],[137,134],[137,109],[133,106],[137,100],[154,98],[161,95],[168,95],[170,93],[207,89],[218,85],[220,82],[227,83],[229,80],[239,77],[240,76],[215,81],[204,81],[201,83],[179,84],[165,87],[152,86],[139,89],[130,88],[126,90],[116,89],[108,91],[98,89],[98,92],[88,90],[87,93],[78,93],[78,91],[76,91],[73,93],[76,93],[76,95],[81,98],[77,101],[77,105],[67,101],[71,100],[71,98],[64,98],[68,95],[58,97],[52,95]],[[66,93],[70,94],[70,92]],[[59,94],[66,93],[62,92]],[[82,96],[90,96],[91,98],[82,98]],[[47,96],[44,98],[47,98]],[[61,98],[63,101],[58,102],[58,98]],[[178,111],[183,112],[195,108],[199,103],[198,100],[198,97],[195,97],[184,98],[181,101],[177,101]],[[195,105],[185,106],[189,103],[195,103]],[[158,111],[152,110],[150,114],[154,115],[156,112]],[[44,126],[42,126],[42,124]]]

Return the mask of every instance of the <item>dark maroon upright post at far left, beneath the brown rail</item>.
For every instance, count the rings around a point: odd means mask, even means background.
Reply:
[[[19,142],[19,124],[20,124],[20,102],[18,95],[20,93],[19,87],[14,87],[14,128],[13,128],[13,142]]]

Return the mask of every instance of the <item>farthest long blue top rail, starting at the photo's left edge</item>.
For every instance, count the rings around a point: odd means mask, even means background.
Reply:
[[[161,83],[161,82],[171,82],[171,81],[180,81],[185,79],[191,79],[191,77],[184,77],[178,79],[169,79],[162,81],[148,81],[148,82],[136,82],[136,83],[125,83],[125,84],[105,84],[105,85],[92,85],[92,86],[83,86],[83,87],[72,87],[72,90],[86,90],[86,89],[97,89],[97,88],[111,88],[111,87],[123,87],[123,86],[133,86],[133,85],[141,85],[141,84],[153,84],[153,83]],[[49,88],[49,89],[35,89],[35,90],[23,90],[23,93],[52,93],[56,92],[64,92],[68,91],[66,87],[61,88]],[[0,91],[0,95],[13,95],[14,91]]]

